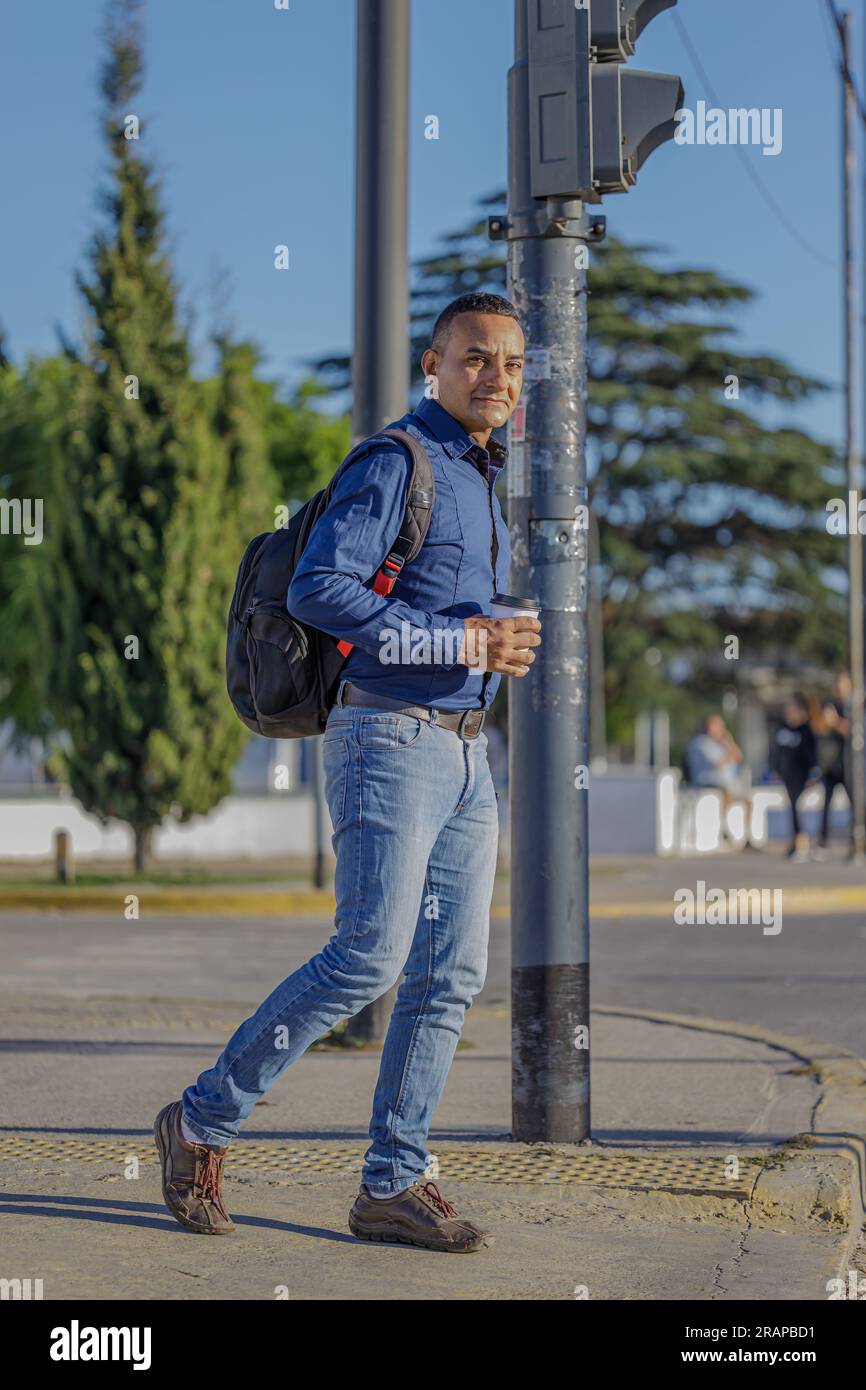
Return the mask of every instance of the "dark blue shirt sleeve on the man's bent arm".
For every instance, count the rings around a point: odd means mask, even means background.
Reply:
[[[463,635],[461,619],[413,609],[371,588],[400,534],[410,478],[411,461],[402,450],[377,449],[343,468],[289,584],[292,617],[373,656],[381,652],[385,632],[400,632],[402,624],[410,626],[411,639],[420,632]],[[431,651],[453,653],[459,645],[432,642]]]

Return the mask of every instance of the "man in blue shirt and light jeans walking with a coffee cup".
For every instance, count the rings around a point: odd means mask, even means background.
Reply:
[[[450,303],[421,357],[428,393],[393,421],[421,439],[434,468],[424,546],[389,596],[373,591],[411,475],[407,450],[382,441],[343,470],[289,587],[292,614],[353,644],[324,735],[335,933],[157,1116],[163,1193],[192,1230],[235,1229],[222,1159],[253,1105],[311,1042],[405,973],[349,1227],[452,1252],[491,1243],[424,1175],[430,1120],[487,972],[499,820],[484,714],[500,677],[525,676],[541,642],[538,619],[484,616],[509,578],[493,492],[506,450],[491,431],[517,404],[523,364],[506,299]]]

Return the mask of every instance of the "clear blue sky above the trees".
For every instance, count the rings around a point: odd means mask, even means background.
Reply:
[[[657,150],[635,189],[609,197],[609,229],[712,267],[758,292],[734,310],[738,346],[841,379],[838,81],[824,0],[680,0],[677,15],[723,107],[781,107],[783,150]],[[851,0],[862,90],[866,0]],[[463,225],[474,199],[505,186],[510,0],[414,0],[410,254]],[[74,274],[97,222],[104,168],[96,121],[103,0],[7,0],[4,271],[0,320],[14,360],[78,335]],[[353,0],[149,0],[145,140],[164,181],[170,246],[197,338],[214,268],[228,271],[235,331],[292,382],[303,357],[349,346],[354,118]],[[709,93],[673,14],[639,42],[645,68],[681,74],[687,106]],[[439,139],[424,139],[424,117]],[[805,249],[744,168],[749,161]],[[860,195],[862,196],[862,195]],[[860,196],[858,202],[860,200]],[[858,207],[858,220],[862,208]],[[272,247],[291,247],[277,274]],[[824,261],[835,263],[826,264]],[[776,413],[838,439],[841,400]]]

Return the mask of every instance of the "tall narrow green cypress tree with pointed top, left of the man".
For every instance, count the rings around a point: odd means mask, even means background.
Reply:
[[[186,820],[220,801],[246,737],[225,695],[224,644],[252,471],[190,378],[158,181],[139,153],[142,74],[140,4],[113,3],[101,72],[111,186],[78,278],[86,370],[54,575],[75,605],[57,678],[63,771],[88,810],[132,827],[139,869],[165,815]]]

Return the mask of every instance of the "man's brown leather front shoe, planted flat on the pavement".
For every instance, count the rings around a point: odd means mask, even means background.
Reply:
[[[349,1230],[359,1240],[423,1245],[466,1254],[492,1245],[493,1237],[471,1220],[461,1220],[435,1183],[413,1183],[396,1197],[370,1197],[361,1183],[349,1212]]]

